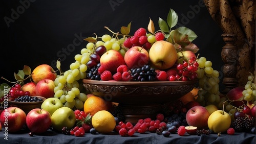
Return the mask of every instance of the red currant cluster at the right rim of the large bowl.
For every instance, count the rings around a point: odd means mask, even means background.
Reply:
[[[176,75],[176,79],[182,81],[195,80],[197,78],[197,68],[199,64],[195,57],[191,57],[188,61],[183,61],[182,64],[177,65],[178,75]]]

